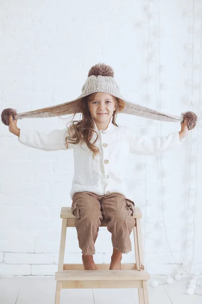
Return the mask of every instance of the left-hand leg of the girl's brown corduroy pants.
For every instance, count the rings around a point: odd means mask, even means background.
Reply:
[[[79,248],[84,255],[95,254],[94,243],[103,220],[98,197],[90,192],[79,192],[75,193],[72,199]]]

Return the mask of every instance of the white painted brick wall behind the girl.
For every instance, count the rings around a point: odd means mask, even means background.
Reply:
[[[174,0],[77,0],[71,6],[53,0],[40,5],[2,3],[0,111],[13,107],[23,112],[73,100],[80,95],[89,68],[98,62],[114,68],[127,100],[176,115],[198,111],[201,10],[197,0],[180,5]],[[180,130],[180,124],[126,115],[117,121],[139,135]],[[27,119],[18,127],[49,132],[67,122]],[[171,274],[176,262],[185,260],[192,261],[192,273],[202,271],[201,133],[201,128],[194,129],[180,149],[162,157],[133,155],[128,164],[129,191],[143,212],[150,274]],[[27,147],[0,124],[0,170],[0,276],[54,275],[60,209],[71,206],[72,151],[47,153]],[[187,209],[193,213],[187,215]],[[185,241],[189,247],[184,247]],[[109,263],[112,244],[106,229],[100,229],[95,248],[95,262]],[[133,247],[123,262],[134,259]],[[65,262],[81,262],[75,229],[67,231]],[[184,269],[190,271],[189,264]]]

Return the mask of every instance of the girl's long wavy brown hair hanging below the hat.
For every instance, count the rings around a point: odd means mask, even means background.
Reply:
[[[66,137],[65,144],[68,148],[67,140],[73,144],[85,142],[88,148],[92,151],[93,158],[99,153],[99,149],[94,145],[97,141],[98,135],[94,130],[94,120],[88,109],[88,101],[91,101],[93,98],[95,98],[96,95],[97,93],[92,93],[75,101],[77,103],[77,109],[79,108],[79,112],[82,113],[82,119],[74,121],[76,112],[73,114],[73,121],[70,122],[71,125],[68,127],[70,136]],[[125,102],[122,99],[116,97],[115,105],[116,109],[113,113],[112,123],[118,127],[116,123],[116,116],[119,111],[122,111],[124,109]],[[92,138],[93,133],[96,133],[96,139],[91,143],[90,139]]]

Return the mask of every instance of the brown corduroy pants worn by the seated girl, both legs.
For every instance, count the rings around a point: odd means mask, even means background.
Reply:
[[[130,234],[135,219],[134,203],[131,200],[115,192],[103,196],[79,192],[73,195],[72,200],[72,212],[76,216],[75,227],[82,254],[95,253],[94,243],[103,220],[107,222],[107,229],[112,234],[113,248],[122,253],[132,250]]]

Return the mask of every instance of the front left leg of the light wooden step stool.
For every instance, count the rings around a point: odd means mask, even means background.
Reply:
[[[67,218],[63,218],[62,230],[61,230],[61,239],[60,239],[60,253],[59,253],[58,271],[63,271],[66,233],[67,233]],[[60,304],[61,288],[62,288],[62,281],[57,281],[55,304]]]

